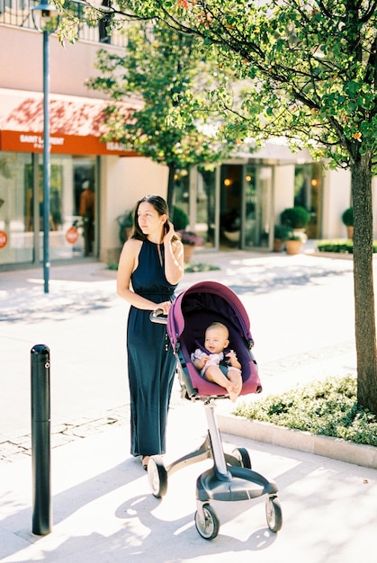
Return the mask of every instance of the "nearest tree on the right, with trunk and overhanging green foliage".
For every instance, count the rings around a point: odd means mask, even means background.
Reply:
[[[228,136],[284,136],[293,149],[309,147],[329,166],[350,169],[357,396],[375,415],[376,7],[375,0],[118,0],[112,8],[114,21],[164,21],[184,37],[200,37],[209,49],[216,47],[223,67],[250,80],[241,106],[222,89],[211,92],[215,107],[229,112]]]

